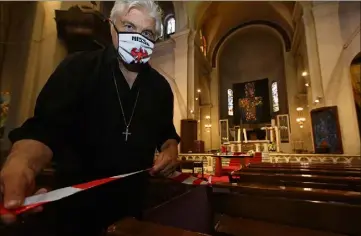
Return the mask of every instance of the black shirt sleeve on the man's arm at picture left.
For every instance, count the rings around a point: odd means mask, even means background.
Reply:
[[[76,58],[64,59],[41,90],[34,116],[9,133],[12,143],[32,139],[42,142],[53,152],[63,143],[69,128],[77,117],[81,102],[82,79],[77,76]]]

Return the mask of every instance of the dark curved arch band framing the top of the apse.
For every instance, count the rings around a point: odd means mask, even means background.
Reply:
[[[219,42],[215,46],[215,49],[213,50],[212,67],[216,67],[217,58],[218,58],[218,54],[219,54],[219,49],[227,39],[229,39],[234,33],[239,32],[239,30],[244,29],[245,27],[257,26],[257,25],[266,26],[266,27],[271,28],[271,29],[275,30],[276,32],[278,32],[278,34],[283,39],[282,42],[284,44],[285,51],[288,52],[291,49],[292,40],[291,40],[290,36],[288,35],[287,31],[284,30],[281,26],[279,26],[276,23],[273,23],[273,22],[270,22],[270,21],[264,21],[264,20],[249,21],[249,22],[246,22],[244,24],[241,24],[241,25],[229,30],[227,32],[227,34],[225,34],[221,38],[221,40],[219,40]]]

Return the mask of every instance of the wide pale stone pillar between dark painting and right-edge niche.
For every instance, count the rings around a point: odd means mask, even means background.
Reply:
[[[340,27],[340,20],[347,19],[348,14],[351,16],[349,18],[349,25],[359,25],[360,13],[359,11],[343,12],[340,16],[339,4],[339,2],[314,2],[312,8],[318,42],[324,99],[326,106],[337,106],[338,108],[344,153],[360,155],[360,136],[358,132],[355,132],[358,124],[350,83],[351,58],[345,58],[347,47],[344,47],[352,39],[353,29],[350,35],[345,36],[343,39],[342,33],[344,29]],[[342,18],[340,19],[340,17]],[[359,50],[360,47],[357,48],[354,55]]]

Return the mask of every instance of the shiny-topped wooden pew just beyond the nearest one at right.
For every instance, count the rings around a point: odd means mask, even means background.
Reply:
[[[263,183],[290,187],[361,191],[360,177],[338,177],[303,174],[269,174],[244,171],[233,172],[231,183]]]

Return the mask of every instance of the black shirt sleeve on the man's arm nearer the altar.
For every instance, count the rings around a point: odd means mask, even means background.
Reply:
[[[160,129],[160,135],[158,138],[158,145],[157,149],[158,151],[161,150],[162,145],[168,140],[168,139],[174,139],[177,140],[177,142],[180,142],[180,137],[177,134],[177,131],[174,127],[173,123],[173,112],[174,112],[174,95],[172,92],[172,89],[170,85],[168,84],[167,89],[165,91],[165,96],[163,97],[162,104],[164,104],[162,107],[162,123],[161,123],[161,129]]]

